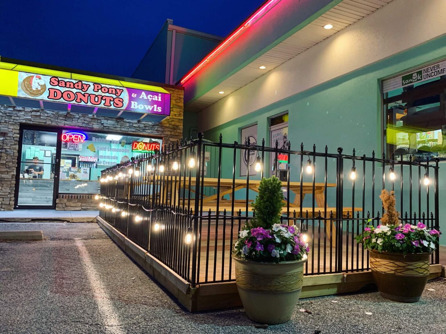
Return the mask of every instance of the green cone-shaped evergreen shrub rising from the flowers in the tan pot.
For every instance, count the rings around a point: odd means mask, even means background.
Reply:
[[[252,204],[255,216],[252,217],[249,228],[271,228],[274,224],[280,224],[282,213],[283,191],[282,182],[276,176],[260,181],[259,192],[256,201]]]

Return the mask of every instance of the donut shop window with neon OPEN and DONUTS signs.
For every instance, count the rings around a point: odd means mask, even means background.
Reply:
[[[95,194],[103,169],[159,149],[161,143],[158,138],[63,130],[59,193]]]

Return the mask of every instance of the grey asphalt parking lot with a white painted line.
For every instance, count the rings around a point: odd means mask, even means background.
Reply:
[[[442,278],[414,304],[376,291],[310,298],[259,329],[241,308],[190,314],[95,223],[0,223],[26,229],[45,240],[0,242],[0,333],[446,333]]]

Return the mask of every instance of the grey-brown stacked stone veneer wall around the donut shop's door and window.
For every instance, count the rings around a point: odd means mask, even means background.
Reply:
[[[0,133],[0,211],[12,211],[14,207],[21,123],[36,126],[74,126],[91,131],[118,131],[146,136],[157,135],[162,136],[166,144],[176,142],[182,138],[183,132],[184,90],[181,87],[163,88],[171,94],[170,116],[160,123],[0,105],[0,128],[8,128],[6,134]],[[57,204],[61,204],[58,206],[59,210],[69,210],[69,207],[74,210],[83,210],[93,206],[88,200],[82,197],[62,198],[62,195],[59,195],[56,201],[58,201]]]

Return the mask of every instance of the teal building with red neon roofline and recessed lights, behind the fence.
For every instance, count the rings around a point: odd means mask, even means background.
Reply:
[[[361,156],[439,159],[441,199],[445,13],[442,0],[265,1],[180,80],[185,111],[196,113],[198,131],[214,142],[222,134],[225,143],[264,138],[269,147],[290,142],[292,150],[302,143],[331,153],[343,147]],[[237,157],[240,175],[251,161],[244,158]],[[443,229],[445,216],[440,205]]]

